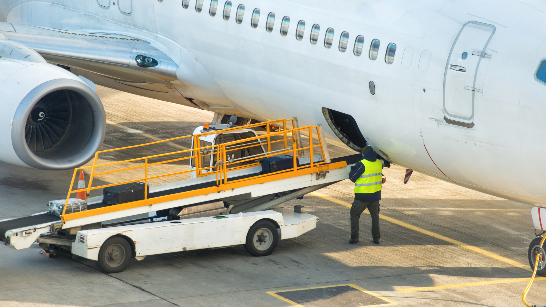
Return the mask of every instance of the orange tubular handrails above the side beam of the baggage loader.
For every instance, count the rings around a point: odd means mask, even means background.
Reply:
[[[270,126],[272,124],[277,124],[278,125],[278,123],[282,123],[282,127],[283,127],[282,131],[271,132],[270,131]],[[293,127],[292,129],[287,129],[287,124],[288,123],[292,124],[292,127]],[[203,147],[195,147],[195,146],[199,145],[199,138],[204,137],[206,135],[213,135],[213,134],[219,134],[219,133],[229,133],[229,132],[234,132],[234,131],[238,131],[238,130],[241,130],[241,129],[248,129],[248,128],[259,127],[259,126],[263,126],[263,125],[266,126],[266,134],[264,134],[264,135],[258,135],[257,137],[251,137],[251,138],[246,138],[246,139],[241,139],[241,140],[230,141],[228,143],[223,143],[223,144],[215,144],[215,145],[209,145],[209,146],[203,146]],[[308,132],[308,136],[309,136],[309,145],[308,146],[301,147],[301,144],[298,143],[298,138],[296,138],[296,132],[299,132],[299,131],[307,131]],[[319,144],[313,145],[313,132],[316,132],[316,136],[318,137]],[[288,138],[289,133],[292,134],[291,138]],[[279,136],[282,136],[282,139],[280,139],[280,140],[271,140],[271,138],[279,137]],[[98,155],[102,154],[104,152],[132,149],[132,148],[135,148],[135,147],[158,144],[158,143],[163,143],[163,142],[168,142],[168,141],[183,139],[183,138],[189,138],[189,137],[193,137],[194,148],[192,148],[192,149],[179,150],[179,151],[174,151],[174,152],[167,152],[167,153],[164,153],[164,154],[156,154],[156,155],[145,156],[145,157],[140,157],[140,158],[132,158],[132,159],[128,159],[128,160],[97,164]],[[264,139],[264,138],[266,139],[266,141],[261,140],[261,139]],[[291,142],[292,146],[291,147],[288,146],[288,141],[289,140],[292,140],[292,142]],[[252,141],[254,141],[254,143],[248,145],[248,143],[252,142]],[[280,143],[280,142],[282,142],[282,145],[284,145],[283,148],[280,149],[280,150],[272,151],[271,150],[271,145],[275,144],[275,143]],[[262,154],[254,155],[254,156],[251,156],[251,157],[247,156],[246,159],[243,159],[243,160],[229,162],[229,159],[227,157],[227,152],[235,151],[235,150],[241,150],[241,149],[247,149],[247,148],[255,147],[255,146],[262,146],[262,145],[265,145],[265,144],[267,144],[267,151],[266,152],[263,152]],[[107,149],[107,150],[97,151],[95,156],[94,156],[94,159],[93,159],[93,164],[91,166],[84,166],[84,167],[79,167],[79,168],[74,169],[74,174],[72,176],[72,181],[71,181],[72,185],[70,186],[70,188],[68,190],[68,195],[67,195],[66,203],[65,203],[64,208],[63,208],[63,213],[62,213],[61,218],[62,218],[63,222],[66,222],[66,220],[68,219],[68,217],[70,215],[76,215],[77,213],[80,213],[80,212],[75,212],[75,213],[71,213],[71,214],[66,214],[68,199],[70,198],[70,195],[72,193],[76,193],[78,191],[80,191],[80,192],[81,191],[90,192],[91,190],[97,190],[99,188],[111,187],[111,186],[116,186],[116,185],[121,185],[121,184],[129,184],[129,183],[137,182],[137,181],[144,181],[144,184],[145,184],[144,199],[143,200],[137,200],[136,202],[132,202],[132,207],[131,208],[133,208],[134,206],[139,205],[139,204],[137,204],[138,202],[141,202],[140,205],[150,204],[150,198],[149,198],[149,195],[148,195],[148,192],[147,192],[147,185],[149,183],[149,180],[151,180],[151,179],[164,178],[164,177],[167,177],[167,176],[180,175],[180,174],[186,174],[186,173],[191,173],[191,172],[195,172],[195,174],[198,177],[216,175],[216,187],[217,187],[216,190],[221,191],[221,190],[223,190],[224,185],[237,184],[238,186],[240,186],[240,182],[242,182],[242,181],[252,180],[252,179],[263,180],[262,178],[264,178],[265,176],[271,176],[271,175],[286,173],[286,172],[290,172],[290,171],[294,172],[294,175],[296,175],[296,173],[299,175],[301,173],[301,172],[299,172],[299,170],[301,170],[301,169],[310,168],[312,170],[314,167],[317,167],[319,164],[325,163],[324,161],[318,162],[318,163],[313,161],[313,149],[314,149],[314,147],[321,147],[319,151],[321,151],[322,157],[324,157],[324,147],[323,147],[323,144],[321,143],[321,138],[320,138],[320,135],[319,135],[319,129],[318,129],[317,126],[306,126],[306,127],[295,128],[293,119],[291,119],[291,120],[283,119],[283,120],[276,120],[276,121],[267,121],[267,122],[261,122],[261,123],[254,123],[254,124],[246,125],[246,126],[230,127],[230,128],[227,128],[227,129],[222,129],[221,131],[209,131],[209,132],[204,132],[204,133],[200,133],[200,134],[185,135],[183,137],[170,138],[170,139],[161,140],[161,141],[153,141],[151,143],[126,146],[126,147],[121,147],[121,148],[117,148],[117,149]],[[299,155],[299,152],[301,152],[300,150],[305,150],[305,149],[309,149],[309,151],[310,151],[310,164],[308,166],[298,167],[297,163],[296,163],[296,156]],[[204,150],[207,150],[206,154],[204,153]],[[170,159],[170,160],[166,160],[166,161],[159,161],[159,162],[150,162],[150,159],[152,159],[152,158],[164,157],[164,156],[168,156],[168,155],[185,154],[187,152],[189,152],[189,154],[190,154],[187,157],[174,158],[174,159]],[[258,174],[256,176],[251,176],[250,178],[245,178],[245,179],[238,179],[238,180],[232,180],[232,181],[228,180],[228,169],[229,169],[229,171],[238,170],[238,169],[245,169],[245,168],[248,168],[248,167],[258,166],[260,163],[250,163],[250,164],[240,165],[240,166],[235,166],[235,167],[229,167],[230,165],[239,164],[239,163],[243,163],[243,162],[247,162],[247,161],[258,160],[258,159],[263,159],[263,158],[266,158],[266,157],[276,156],[276,155],[280,155],[280,154],[286,155],[286,154],[289,154],[289,153],[292,153],[292,155],[293,155],[293,168],[291,168],[291,169],[280,170],[278,172],[273,172],[273,173],[268,173],[268,174]],[[206,166],[206,167],[197,168],[197,166],[202,166],[201,157],[204,157],[204,156],[210,156],[211,159],[213,157],[215,157],[216,160],[213,160],[213,161],[216,161],[217,165],[216,166]],[[187,160],[187,159],[194,159],[196,168],[189,169],[189,170],[182,170],[180,172],[173,172],[173,173],[168,173],[168,174],[154,175],[154,176],[150,176],[150,174],[149,174],[149,170],[150,170],[149,168],[152,167],[152,166],[157,166],[159,164],[171,163],[171,162],[182,161],[182,160]],[[144,165],[131,166],[131,167],[126,167],[126,168],[114,169],[114,170],[105,170],[104,172],[96,173],[97,168],[100,168],[100,167],[117,166],[118,164],[121,164],[121,163],[138,162],[138,161],[143,161]],[[139,168],[144,168],[144,178],[138,178],[138,179],[134,179],[134,180],[127,180],[127,181],[123,181],[123,182],[116,182],[116,183],[113,183],[113,184],[106,184],[106,185],[100,185],[100,186],[95,186],[95,187],[92,186],[93,179],[96,176],[112,174],[112,173],[118,173],[118,172],[123,172],[123,171],[127,171],[127,170],[139,169]],[[79,172],[79,170],[82,170],[82,169],[91,169],[91,176],[90,176],[89,184],[87,185],[87,188],[85,188],[83,190],[72,190],[73,185],[74,185],[74,180],[76,178],[76,174]],[[213,170],[213,172],[211,172],[211,169]],[[207,172],[203,173],[202,172],[203,170],[207,170]],[[249,181],[249,184],[254,184],[254,183]],[[155,197],[153,197],[153,198],[155,198]],[[124,205],[124,204],[118,204],[118,205],[114,205],[114,206],[116,206],[116,208],[120,208],[118,210],[122,210],[122,208],[119,207],[121,205]],[[93,209],[93,210],[96,210],[96,209]],[[104,210],[101,210],[101,211],[104,211]],[[111,211],[116,211],[116,210],[111,210]]]

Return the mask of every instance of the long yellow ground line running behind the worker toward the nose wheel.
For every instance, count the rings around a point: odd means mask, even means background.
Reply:
[[[324,194],[321,194],[321,193],[318,193],[318,192],[311,192],[309,193],[310,195],[312,196],[316,196],[316,197],[320,197],[322,199],[326,199],[326,200],[329,200],[330,202],[333,202],[333,203],[336,203],[336,204],[340,204],[342,206],[346,206],[347,208],[351,208],[352,204],[349,204],[347,202],[343,202],[342,200],[339,200],[339,199],[335,199],[333,197],[330,197],[330,196],[326,196]],[[369,212],[365,211],[366,214],[370,214]],[[468,245],[466,243],[463,243],[461,241],[458,241],[458,240],[454,240],[452,238],[448,238],[444,235],[441,235],[441,234],[437,234],[437,233],[434,233],[434,232],[431,232],[431,231],[428,231],[426,229],[423,229],[423,228],[420,228],[420,227],[417,227],[417,226],[413,226],[411,224],[408,224],[406,222],[402,222],[400,220],[396,220],[396,219],[393,219],[392,217],[388,217],[388,216],[385,216],[383,214],[379,214],[379,219],[382,219],[382,220],[385,220],[385,221],[388,221],[388,222],[391,222],[391,223],[394,223],[396,225],[399,225],[399,226],[402,226],[402,227],[406,227],[408,229],[411,229],[412,231],[416,231],[416,232],[420,232],[420,233],[423,233],[423,234],[426,234],[426,235],[430,235],[430,237],[433,237],[433,238],[436,238],[436,239],[440,239],[442,241],[446,241],[446,242],[449,242],[451,244],[454,244],[454,245],[458,245],[460,247],[463,247],[467,250],[471,250],[473,252],[477,252],[477,253],[480,253],[484,256],[488,256],[488,257],[491,257],[493,259],[496,259],[498,261],[502,261],[502,262],[505,262],[505,263],[508,263],[510,265],[515,265],[516,267],[522,267],[522,268],[526,268],[527,265],[526,264],[523,264],[523,263],[519,263],[517,261],[513,261],[512,259],[508,259],[506,257],[502,257],[500,255],[497,255],[496,253],[492,253],[492,252],[489,252],[489,251],[486,251],[486,250],[483,250],[483,249],[480,249],[479,247],[476,247],[476,246],[472,246],[472,245]]]

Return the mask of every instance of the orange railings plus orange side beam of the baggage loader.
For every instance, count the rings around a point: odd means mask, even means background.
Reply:
[[[280,131],[278,132],[271,132],[270,127],[272,124],[277,124],[277,126],[281,126],[280,124],[282,124],[282,129],[279,129]],[[202,147],[197,147],[193,149],[167,152],[165,154],[157,154],[157,155],[145,156],[140,158],[133,158],[129,160],[97,164],[98,155],[103,154],[104,152],[132,149],[135,147],[164,143],[164,142],[169,142],[169,141],[184,139],[184,138],[193,138],[194,146],[198,146],[200,138],[206,137],[207,135],[229,134],[230,132],[240,131],[241,129],[255,128],[255,127],[264,126],[264,125],[266,126],[266,134],[258,135],[257,137],[250,137],[250,138],[245,138],[240,140],[229,141],[228,143],[213,144],[213,145],[202,146]],[[293,128],[287,129],[287,125],[290,125]],[[296,138],[296,134],[298,134],[299,132],[307,133],[308,141],[309,141],[308,146],[302,147],[301,144],[299,144],[298,138]],[[316,137],[318,141],[313,140],[314,137]],[[313,144],[314,141],[317,141],[317,144]],[[212,192],[225,191],[225,190],[228,190],[229,188],[236,188],[236,187],[247,186],[247,185],[252,185],[257,183],[263,183],[269,180],[277,180],[277,179],[289,178],[291,176],[298,176],[302,174],[318,172],[318,170],[322,170],[322,169],[318,169],[318,167],[321,164],[324,164],[325,162],[322,160],[318,162],[313,161],[313,153],[321,154],[322,157],[325,157],[324,146],[322,142],[323,140],[321,139],[318,126],[294,127],[294,120],[283,119],[283,120],[276,120],[276,121],[260,122],[260,123],[255,123],[252,125],[246,125],[246,126],[230,127],[230,128],[222,129],[219,131],[211,130],[211,131],[207,131],[200,134],[186,135],[183,137],[171,138],[171,139],[155,141],[155,142],[140,144],[140,145],[126,146],[126,147],[121,147],[117,149],[97,151],[94,156],[93,165],[74,169],[74,175],[72,176],[72,185],[69,188],[66,204],[63,208],[63,214],[61,218],[63,222],[66,222],[67,220],[78,219],[79,217],[102,214],[106,212],[113,212],[113,211],[118,211],[118,210],[123,210],[128,208],[135,208],[137,206],[151,205],[154,203],[165,202],[168,200],[191,197],[195,195],[203,195],[203,194],[208,194]],[[281,143],[280,145],[282,145],[282,149],[271,150],[272,145],[276,143]],[[265,145],[266,145],[266,150],[265,149],[262,150],[263,146]],[[241,155],[240,158],[232,158],[233,156],[229,157],[230,152],[239,151],[239,150],[248,150],[248,152],[250,152],[250,148],[252,147],[259,147],[258,148],[259,154],[250,155],[250,156]],[[317,147],[319,148],[317,149]],[[310,163],[308,165],[298,167],[296,164],[296,157],[298,157],[299,152],[303,152],[303,150],[309,151]],[[169,160],[165,160],[165,161],[150,162],[150,160],[153,160],[155,158],[166,157],[169,155],[179,155],[179,154],[189,154],[189,155],[186,157],[181,157],[181,158],[170,158]],[[260,165],[260,162],[258,160],[261,160],[266,157],[286,155],[286,154],[292,154],[293,156],[293,167],[290,169],[279,170],[278,172],[273,172],[268,174],[257,174],[256,176],[250,176],[248,178],[238,179],[238,180],[229,180],[228,178],[228,172],[232,172],[233,170],[256,167]],[[210,156],[210,158],[212,158],[213,161],[215,161],[216,163],[214,163],[213,166],[210,166],[210,164],[208,166],[201,165],[203,158],[206,156]],[[195,167],[196,167],[195,169],[181,170],[180,172],[173,172],[173,173],[167,173],[167,174],[161,174],[161,175],[155,175],[155,176],[149,175],[149,168],[152,166],[158,166],[160,164],[172,163],[172,162],[183,161],[188,159],[195,159]],[[121,164],[121,163],[129,163],[129,162],[137,162],[137,161],[144,162],[144,163],[138,166],[106,170],[104,172],[96,172],[98,168],[103,168],[108,166],[112,167],[112,166],[117,166],[118,164]],[[343,166],[341,165],[337,166],[337,164],[340,164],[340,163],[336,163],[335,168],[346,166],[346,163]],[[201,167],[198,167],[198,166],[201,166]],[[96,178],[97,176],[124,172],[127,170],[134,170],[139,168],[144,168],[144,176],[142,178],[116,182],[114,184],[99,185],[94,187],[92,186],[93,179]],[[78,191],[80,192],[82,191],[82,190],[72,190],[72,187],[74,185],[74,180],[76,179],[76,174],[78,174],[79,170],[81,169],[91,169],[91,177],[90,177],[87,188],[85,188],[85,191],[87,193],[90,192],[91,190],[97,190],[100,188],[106,188],[106,187],[111,187],[116,185],[129,184],[132,182],[144,181],[144,184],[145,184],[144,199],[136,200],[135,202],[130,202],[130,203],[110,205],[110,206],[106,206],[102,208],[66,214],[68,199],[70,198],[70,195]],[[197,177],[215,175],[216,186],[212,188],[201,188],[199,190],[194,190],[194,191],[181,192],[176,194],[170,194],[167,196],[149,198],[149,195],[147,193],[147,188],[146,188],[149,180],[157,179],[157,178],[165,178],[168,176],[174,176],[174,175],[180,175],[180,174],[186,174],[191,172],[195,172],[195,175]]]

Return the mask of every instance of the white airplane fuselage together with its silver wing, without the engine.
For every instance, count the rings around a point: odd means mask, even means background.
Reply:
[[[137,95],[258,120],[297,116],[300,126],[326,125],[323,108],[339,111],[400,166],[546,204],[543,3],[245,0],[229,2],[229,14],[225,1],[186,3],[4,0],[0,33]],[[139,68],[139,54],[158,66]]]

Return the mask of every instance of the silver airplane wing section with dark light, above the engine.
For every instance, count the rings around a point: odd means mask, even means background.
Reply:
[[[173,60],[149,42],[134,37],[0,22],[0,38],[27,45],[50,63],[128,84],[170,85],[177,79],[178,66]]]

